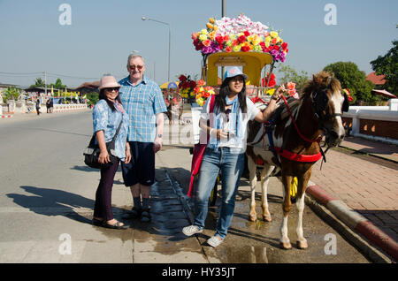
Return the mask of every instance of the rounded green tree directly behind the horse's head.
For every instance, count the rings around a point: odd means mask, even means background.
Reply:
[[[378,99],[371,95],[374,88],[371,81],[366,80],[366,73],[359,70],[353,62],[337,62],[327,65],[325,72],[331,72],[334,77],[340,80],[342,88],[348,88],[354,103],[364,101],[366,104],[376,104]]]

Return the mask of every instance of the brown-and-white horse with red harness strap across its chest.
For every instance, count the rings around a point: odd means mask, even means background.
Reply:
[[[264,221],[272,221],[267,202],[269,178],[276,175],[283,184],[283,219],[279,241],[280,247],[284,249],[292,247],[287,237],[287,217],[292,208],[290,187],[292,180],[297,178],[297,247],[304,249],[308,247],[302,232],[304,194],[312,165],[323,155],[319,142],[325,135],[325,145],[328,148],[341,143],[345,136],[341,114],[348,111],[349,105],[348,96],[341,94],[340,81],[328,72],[313,75],[312,80],[304,87],[300,99],[290,98],[292,99],[290,106],[282,103],[274,111],[271,128],[266,129],[266,124],[254,121],[249,123],[246,152],[251,187],[249,220],[256,221],[256,166],[260,159],[264,162],[260,175]],[[271,131],[267,131],[270,129]]]

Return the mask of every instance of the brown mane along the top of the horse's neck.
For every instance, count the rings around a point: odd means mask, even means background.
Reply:
[[[307,82],[302,91],[301,99],[310,96],[319,87],[331,88],[333,92],[341,90],[340,81],[334,78],[334,74],[322,71],[312,75],[312,80]]]

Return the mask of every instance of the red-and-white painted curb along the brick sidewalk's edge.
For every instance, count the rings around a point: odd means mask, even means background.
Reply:
[[[341,219],[351,230],[362,234],[371,244],[383,249],[395,262],[398,261],[398,243],[372,224],[366,217],[349,208],[343,201],[327,194],[314,183],[310,183],[307,186],[306,194],[310,194],[315,201],[329,209],[334,216]]]

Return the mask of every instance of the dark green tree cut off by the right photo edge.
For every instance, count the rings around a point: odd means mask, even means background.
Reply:
[[[371,61],[371,69],[378,75],[386,76],[387,91],[396,95],[398,94],[398,41],[394,41],[393,45],[394,47],[386,55]]]

